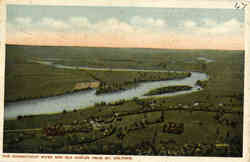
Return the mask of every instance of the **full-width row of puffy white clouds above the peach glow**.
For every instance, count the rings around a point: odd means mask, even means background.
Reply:
[[[243,32],[242,23],[237,19],[231,19],[226,22],[216,22],[212,19],[202,19],[201,21],[186,20],[180,23],[181,28],[170,28],[166,21],[159,18],[133,16],[129,21],[121,21],[111,17],[97,22],[91,22],[87,17],[71,17],[65,20],[41,18],[40,21],[32,21],[29,17],[18,17],[13,22],[8,23],[11,30],[29,30],[29,31],[50,31],[50,32],[96,32],[104,34],[112,32],[113,34],[126,33],[151,33],[162,34],[174,32],[177,34],[198,34],[198,35],[223,35],[223,34],[241,34]],[[181,30],[180,30],[181,29]]]

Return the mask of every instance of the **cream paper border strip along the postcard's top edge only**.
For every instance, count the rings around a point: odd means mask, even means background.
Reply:
[[[167,8],[233,8],[238,0],[6,0],[8,4],[84,5]]]

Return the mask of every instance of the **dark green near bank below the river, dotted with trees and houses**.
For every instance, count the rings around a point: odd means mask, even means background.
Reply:
[[[168,152],[173,151],[177,152],[176,155],[178,156],[224,156],[228,152],[225,152],[225,150],[218,151],[216,148],[213,148],[210,152],[195,151],[193,153],[192,151],[181,153],[181,148],[184,145],[200,145],[203,150],[205,145],[211,147],[213,144],[226,143],[231,149],[234,149],[232,153],[235,156],[240,156],[240,150],[237,150],[240,143],[232,144],[230,140],[233,138],[240,140],[242,136],[241,105],[234,105],[229,108],[229,103],[223,102],[223,105],[221,105],[220,100],[216,98],[209,99],[213,102],[204,102],[206,94],[205,91],[199,91],[168,98],[134,98],[120,104],[103,103],[86,109],[63,111],[51,115],[27,116],[18,120],[5,120],[5,130],[31,129],[32,131],[23,133],[20,131],[5,131],[4,152],[16,152],[17,150],[20,152],[22,148],[22,152],[31,153],[41,153],[42,151],[43,153],[117,154],[119,150],[127,150],[131,153],[124,152],[124,154],[140,154],[147,149],[140,148],[137,151],[134,149],[138,149],[146,141],[151,143],[150,141],[153,138],[157,138],[154,147],[158,151],[148,152],[145,155],[160,155],[160,150],[165,150],[167,152],[163,152],[161,155],[174,155]],[[194,99],[195,102],[193,102]],[[162,112],[164,112],[164,119],[161,117]],[[112,119],[114,113],[121,120]],[[141,122],[144,119],[148,121],[148,124],[142,126]],[[91,120],[99,125],[97,129],[92,128],[91,122],[89,122]],[[181,134],[164,132],[163,127],[169,122],[185,123],[184,132]],[[65,126],[60,130],[67,129],[63,136],[46,135],[44,128],[51,127],[52,129],[53,126],[58,124]],[[104,135],[102,128],[109,128],[111,125],[115,129],[114,132],[112,134],[107,132],[108,134]],[[40,131],[33,131],[33,129],[39,129]],[[122,136],[124,135],[122,138],[120,138],[120,129],[122,129]],[[125,129],[128,129],[128,131],[124,132]],[[219,135],[216,134],[216,129],[219,129]],[[200,130],[206,130],[206,135]],[[228,132],[229,137],[227,137]],[[13,140],[17,140],[15,147],[10,145]],[[228,141],[225,142],[224,140]],[[27,143],[27,141],[33,142]],[[67,144],[65,145],[60,141],[67,141]],[[126,141],[129,141],[129,143]],[[174,141],[175,147],[163,149],[162,146],[169,146],[164,141],[167,143],[168,141]],[[23,145],[24,143],[25,145]],[[108,147],[110,143],[112,146],[120,145],[121,147],[118,150],[115,149],[116,151],[112,151],[114,149],[97,151],[101,145]],[[32,148],[32,150],[29,148]]]

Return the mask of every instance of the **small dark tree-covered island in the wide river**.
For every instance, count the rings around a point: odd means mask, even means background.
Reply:
[[[164,93],[187,91],[190,89],[192,89],[192,87],[187,86],[187,85],[167,86],[167,87],[153,89],[153,90],[149,91],[148,93],[144,94],[144,96],[153,96],[153,95],[160,95],[160,94],[164,94]]]

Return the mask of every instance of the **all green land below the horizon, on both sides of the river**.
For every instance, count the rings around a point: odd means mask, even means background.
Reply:
[[[185,73],[56,69],[30,58]],[[76,83],[96,80],[107,87],[103,93],[115,87],[112,93],[193,71],[209,80],[191,94],[5,120],[4,152],[242,156],[244,51],[7,46],[5,101],[73,93]]]

